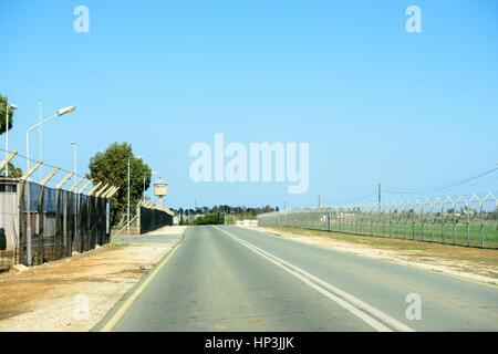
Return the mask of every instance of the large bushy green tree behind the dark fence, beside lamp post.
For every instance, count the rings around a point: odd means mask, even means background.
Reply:
[[[152,170],[142,159],[133,155],[132,145],[127,143],[111,144],[104,153],[97,153],[90,159],[90,178],[94,184],[110,184],[120,187],[111,199],[111,225],[123,226],[127,211],[129,158],[129,214],[136,212],[136,205],[151,185]]]

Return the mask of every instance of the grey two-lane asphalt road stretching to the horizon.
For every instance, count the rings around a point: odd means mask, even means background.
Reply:
[[[197,226],[96,330],[497,331],[497,300],[491,285]]]

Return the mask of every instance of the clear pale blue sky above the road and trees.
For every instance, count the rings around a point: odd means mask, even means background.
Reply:
[[[73,9],[90,10],[76,33]],[[422,33],[405,30],[408,6]],[[169,183],[167,205],[314,206],[447,186],[498,162],[496,1],[1,1],[9,149],[45,125],[43,158],[79,173],[112,142]],[[310,144],[310,186],[198,183],[197,142]],[[31,154],[38,156],[38,134]],[[0,137],[4,148],[4,136]],[[495,179],[492,179],[495,177]],[[497,174],[444,194],[498,191]],[[489,180],[484,183],[485,180]],[[442,192],[443,194],[443,192]],[[426,195],[421,194],[425,197]],[[407,195],[383,195],[384,199]]]

